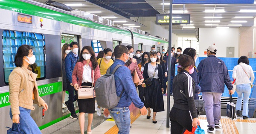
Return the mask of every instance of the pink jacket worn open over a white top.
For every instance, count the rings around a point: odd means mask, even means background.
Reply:
[[[78,83],[78,86],[81,86],[82,83],[82,79],[83,79],[83,71],[84,71],[84,65],[87,63],[86,60],[83,60],[83,62],[78,62],[76,63],[76,66],[73,70],[72,73],[72,84],[75,85],[76,83]],[[90,61],[89,66],[92,68],[92,62]],[[93,69],[92,69],[92,74],[91,77],[93,79]],[[94,72],[94,83],[93,86],[95,86],[95,82],[96,80],[100,77],[100,71],[99,71],[99,66],[97,66],[95,68],[95,72]],[[78,78],[78,80],[77,80]]]

